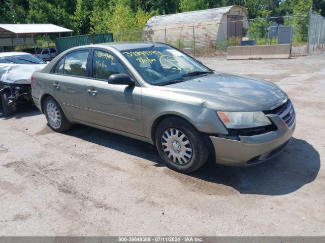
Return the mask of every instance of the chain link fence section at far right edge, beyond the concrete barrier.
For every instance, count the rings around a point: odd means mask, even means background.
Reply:
[[[310,9],[307,52],[325,48],[325,17]]]

